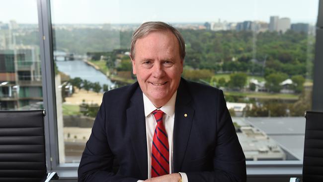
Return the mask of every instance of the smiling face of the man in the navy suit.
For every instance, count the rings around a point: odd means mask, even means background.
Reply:
[[[153,104],[161,107],[167,103],[177,90],[183,72],[175,35],[157,31],[138,39],[132,68],[141,90]]]

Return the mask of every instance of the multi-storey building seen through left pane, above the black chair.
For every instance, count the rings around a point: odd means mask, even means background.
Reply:
[[[42,108],[38,55],[34,46],[0,50],[0,110]]]

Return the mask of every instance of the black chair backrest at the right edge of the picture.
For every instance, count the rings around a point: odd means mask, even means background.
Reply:
[[[323,112],[307,111],[303,182],[323,182]]]

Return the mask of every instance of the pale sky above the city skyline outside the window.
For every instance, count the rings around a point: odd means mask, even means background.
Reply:
[[[319,0],[51,0],[53,24],[317,21]],[[0,0],[0,21],[38,23],[37,0]]]

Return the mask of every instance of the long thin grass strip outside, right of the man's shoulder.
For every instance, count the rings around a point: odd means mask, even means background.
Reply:
[[[268,92],[240,92],[240,91],[225,91],[225,95],[243,96],[249,98],[266,98],[266,99],[286,99],[298,100],[299,95],[290,93],[268,93]]]

